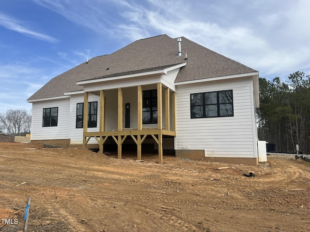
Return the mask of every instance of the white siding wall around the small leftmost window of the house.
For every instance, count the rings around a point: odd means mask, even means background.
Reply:
[[[56,127],[43,127],[43,109],[58,107]],[[69,139],[70,99],[32,102],[31,140]]]

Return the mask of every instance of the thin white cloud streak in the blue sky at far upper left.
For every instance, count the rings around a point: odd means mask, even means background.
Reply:
[[[8,15],[1,14],[0,13],[0,26],[9,29],[14,30],[18,33],[25,34],[31,37],[34,37],[39,40],[47,41],[50,43],[56,43],[58,42],[57,39],[43,33],[36,32],[31,29],[27,29],[25,26],[22,26],[22,22],[19,20],[16,20],[15,18],[12,18]]]

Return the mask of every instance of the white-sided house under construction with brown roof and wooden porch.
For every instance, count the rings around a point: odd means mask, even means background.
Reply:
[[[34,93],[31,142],[256,165],[258,72],[185,37],[135,41]]]

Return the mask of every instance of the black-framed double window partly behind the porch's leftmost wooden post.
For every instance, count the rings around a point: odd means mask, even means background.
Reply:
[[[76,128],[83,128],[84,103],[77,103]],[[88,127],[97,127],[97,102],[88,102]]]

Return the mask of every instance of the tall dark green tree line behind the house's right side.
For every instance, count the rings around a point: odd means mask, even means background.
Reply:
[[[310,76],[290,74],[286,81],[259,78],[258,137],[278,152],[310,154]]]

